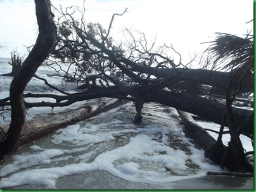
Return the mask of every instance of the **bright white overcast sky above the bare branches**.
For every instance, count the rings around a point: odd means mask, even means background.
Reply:
[[[82,7],[83,0],[52,0],[60,4]],[[128,13],[115,17],[113,34],[124,27],[144,32],[148,41],[172,44],[184,58],[206,48],[201,42],[212,41],[215,32],[246,34],[253,29],[253,0],[86,0],[86,22],[99,22],[108,27],[113,13]],[[10,58],[17,49],[25,54],[37,38],[37,22],[33,0],[0,0],[0,58]]]

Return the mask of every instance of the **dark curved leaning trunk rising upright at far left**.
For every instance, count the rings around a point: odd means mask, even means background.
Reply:
[[[23,124],[25,123],[25,104],[23,91],[30,79],[35,74],[37,68],[46,60],[53,48],[56,40],[56,26],[51,12],[49,0],[35,0],[35,11],[39,26],[39,35],[34,48],[23,62],[11,82],[10,101],[11,101],[11,124],[7,132],[6,139],[1,143],[1,155],[11,153],[15,149],[15,144],[20,138]]]

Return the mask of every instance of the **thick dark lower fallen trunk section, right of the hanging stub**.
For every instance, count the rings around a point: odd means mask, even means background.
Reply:
[[[222,114],[226,111],[226,105],[217,101],[211,101],[210,99],[193,94],[172,93],[163,90],[150,91],[147,95],[146,102],[157,102],[166,106],[172,106],[177,110],[193,113],[220,125],[222,123]],[[234,124],[239,127],[245,121],[246,117],[252,115],[252,113],[253,111],[250,110],[233,108]],[[227,122],[224,125],[227,126]],[[250,118],[241,130],[253,135],[253,118]]]

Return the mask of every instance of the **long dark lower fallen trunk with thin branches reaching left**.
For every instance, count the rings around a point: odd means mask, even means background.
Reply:
[[[101,97],[108,97],[108,98],[117,98],[118,96],[126,96],[127,94],[131,94],[132,96],[136,97],[136,92],[138,91],[148,91],[146,96],[145,102],[157,102],[163,105],[172,106],[177,110],[181,110],[184,112],[193,113],[198,115],[202,118],[205,118],[211,122],[215,122],[216,124],[222,124],[222,114],[226,110],[226,106],[218,103],[217,101],[212,101],[210,99],[203,98],[201,96],[197,96],[194,94],[188,93],[172,93],[170,91],[163,91],[163,90],[156,90],[157,84],[151,84],[149,86],[127,86],[123,87],[122,89],[110,89],[110,91],[99,91],[95,93],[86,93],[86,94],[79,94],[79,95],[68,95],[68,96],[56,96],[50,94],[40,94],[40,96],[44,97],[51,97],[57,100],[57,102],[64,101],[61,103],[48,103],[48,102],[41,102],[41,103],[26,103],[27,106],[67,106],[77,101],[83,101],[86,99],[93,99],[93,98],[101,98]],[[132,94],[133,93],[133,94]],[[37,94],[31,94],[31,96],[39,97]],[[125,99],[125,97],[124,97]],[[234,121],[235,124],[241,125],[246,117],[249,115],[252,117],[253,111],[245,110],[240,108],[234,108]],[[227,125],[227,122],[225,122]],[[241,130],[253,135],[253,118],[249,118]]]

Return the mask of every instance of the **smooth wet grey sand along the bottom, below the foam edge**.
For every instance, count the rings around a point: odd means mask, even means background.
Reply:
[[[16,186],[9,189],[47,189],[43,186]],[[56,189],[254,189],[253,178],[205,176],[169,183],[125,181],[102,170],[60,177]]]

